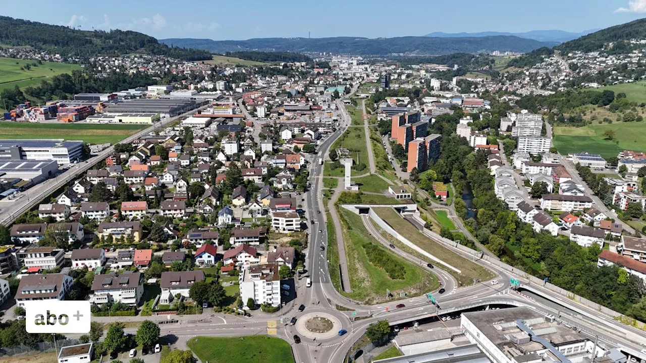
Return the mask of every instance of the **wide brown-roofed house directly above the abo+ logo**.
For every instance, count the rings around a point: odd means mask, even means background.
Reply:
[[[74,280],[63,273],[23,275],[16,291],[17,306],[33,300],[65,300]]]

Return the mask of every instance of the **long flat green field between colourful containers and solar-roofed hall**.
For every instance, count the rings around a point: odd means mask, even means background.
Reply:
[[[115,144],[147,125],[0,122],[0,139],[65,139]]]

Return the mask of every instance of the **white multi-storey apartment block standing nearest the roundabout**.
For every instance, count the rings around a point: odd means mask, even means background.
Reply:
[[[280,306],[280,276],[277,264],[251,265],[240,274],[240,297],[256,305]]]

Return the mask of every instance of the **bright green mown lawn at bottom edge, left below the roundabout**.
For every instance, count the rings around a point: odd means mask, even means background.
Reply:
[[[264,335],[253,337],[194,337],[187,343],[200,361],[209,363],[293,363],[285,340]]]

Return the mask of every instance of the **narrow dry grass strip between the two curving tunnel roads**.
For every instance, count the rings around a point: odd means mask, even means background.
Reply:
[[[417,245],[417,247],[430,254],[433,254],[433,256],[446,262],[446,264],[452,265],[453,267],[461,270],[462,273],[457,275],[456,277],[458,278],[458,280],[461,280],[464,285],[473,284],[474,278],[479,278],[480,280],[486,281],[494,277],[494,274],[491,273],[491,271],[485,269],[485,267],[475,264],[475,262],[472,262],[467,258],[454,253],[453,251],[450,251],[443,245],[431,240],[426,235],[422,234],[410,222],[404,220],[404,218],[401,218],[401,216],[393,211],[393,209],[375,208],[375,213],[377,213],[377,215],[379,215],[382,220],[388,223],[390,227],[393,227],[395,231],[407,238],[413,244]],[[447,269],[447,272],[452,273],[452,275],[454,274],[450,269]]]

